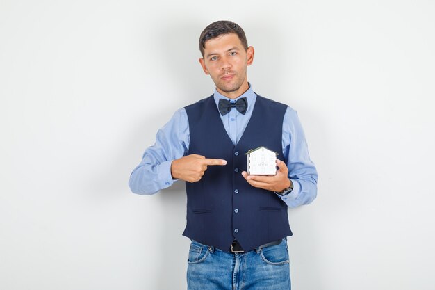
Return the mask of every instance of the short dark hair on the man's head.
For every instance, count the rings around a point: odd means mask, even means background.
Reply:
[[[201,51],[202,56],[204,57],[204,49],[206,48],[207,40],[229,33],[235,33],[240,39],[240,42],[242,42],[243,47],[245,47],[245,50],[247,50],[245,31],[234,22],[220,20],[208,25],[199,36],[199,50]]]

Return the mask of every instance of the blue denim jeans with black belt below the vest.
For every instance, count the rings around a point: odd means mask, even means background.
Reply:
[[[290,290],[287,240],[245,253],[229,253],[192,241],[188,290]]]

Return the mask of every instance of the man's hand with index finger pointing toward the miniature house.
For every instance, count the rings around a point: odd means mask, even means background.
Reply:
[[[207,166],[224,166],[227,161],[223,159],[208,159],[205,156],[191,154],[172,161],[171,174],[173,179],[181,179],[186,182],[199,182]]]

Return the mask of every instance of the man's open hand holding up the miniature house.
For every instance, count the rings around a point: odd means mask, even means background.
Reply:
[[[267,191],[283,191],[290,187],[291,182],[288,179],[288,168],[284,161],[277,159],[277,175],[248,175],[246,171],[242,172],[246,181],[254,187],[263,188]]]

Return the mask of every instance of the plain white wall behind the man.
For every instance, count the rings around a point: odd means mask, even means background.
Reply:
[[[172,113],[211,95],[197,39],[232,19],[249,81],[295,108],[318,198],[293,289],[435,289],[434,1],[0,2],[0,289],[185,289],[183,184],[130,193]],[[206,289],[206,288],[205,288]]]

